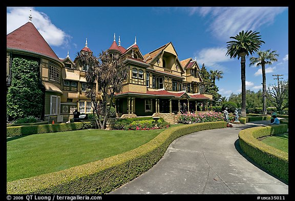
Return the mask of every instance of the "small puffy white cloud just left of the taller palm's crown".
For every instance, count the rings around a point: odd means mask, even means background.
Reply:
[[[226,68],[219,63],[230,61],[230,57],[226,56],[226,48],[206,48],[194,54],[197,57],[197,62],[201,68],[204,63],[206,68],[214,70],[225,70]]]

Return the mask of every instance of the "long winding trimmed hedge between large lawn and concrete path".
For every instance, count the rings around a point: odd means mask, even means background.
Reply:
[[[106,194],[152,168],[176,138],[225,127],[226,122],[210,122],[168,128],[131,151],[67,170],[8,182],[7,194]]]

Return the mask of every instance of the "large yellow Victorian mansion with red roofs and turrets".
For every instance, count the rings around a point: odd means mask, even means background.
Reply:
[[[83,51],[92,53],[87,39]],[[113,100],[119,118],[160,116],[173,123],[184,107],[195,112],[212,106],[212,95],[202,93],[204,82],[196,59],[179,61],[171,42],[142,53],[136,37],[134,44],[124,48],[120,36],[117,44],[114,34],[107,51],[118,53],[129,72],[122,91]],[[86,96],[87,69],[78,66],[69,52],[66,58],[59,58],[31,21],[7,34],[7,89],[13,74],[12,59],[19,56],[39,62],[45,91],[44,120],[68,122],[75,108],[80,113],[92,113],[91,99]]]

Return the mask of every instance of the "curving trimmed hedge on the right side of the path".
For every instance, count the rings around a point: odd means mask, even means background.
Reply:
[[[264,169],[277,175],[286,183],[289,182],[288,153],[268,146],[258,140],[260,137],[284,133],[287,125],[260,126],[244,129],[239,132],[241,149]]]

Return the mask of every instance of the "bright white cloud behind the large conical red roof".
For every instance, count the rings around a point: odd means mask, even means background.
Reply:
[[[32,10],[32,23],[49,45],[64,47],[69,45],[71,36],[52,24],[45,13],[35,10],[33,7],[8,7],[6,33],[8,34],[29,22],[30,10]]]

